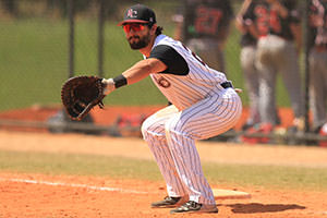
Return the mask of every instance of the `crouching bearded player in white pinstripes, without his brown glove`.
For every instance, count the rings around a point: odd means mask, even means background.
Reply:
[[[187,47],[166,35],[154,11],[143,4],[129,8],[122,25],[132,49],[144,60],[114,78],[104,80],[105,94],[150,76],[172,104],[148,117],[144,140],[167,184],[168,196],[153,207],[177,207],[171,213],[218,213],[195,147],[196,140],[231,129],[242,102],[225,74],[209,68]]]

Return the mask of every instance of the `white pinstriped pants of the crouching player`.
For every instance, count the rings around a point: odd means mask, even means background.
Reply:
[[[166,107],[144,121],[142,133],[166,180],[169,196],[189,195],[190,201],[215,204],[195,140],[228,131],[235,125],[241,112],[240,97],[227,88],[182,111],[174,106]]]

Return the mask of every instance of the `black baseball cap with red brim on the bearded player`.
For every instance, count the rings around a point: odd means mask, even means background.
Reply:
[[[148,23],[155,24],[156,14],[155,12],[144,4],[135,4],[129,8],[124,13],[124,20],[118,25],[122,26],[126,23]]]

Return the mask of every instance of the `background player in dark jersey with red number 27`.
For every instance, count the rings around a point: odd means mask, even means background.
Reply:
[[[183,41],[208,65],[225,70],[223,47],[229,34],[233,11],[229,0],[185,0],[183,13],[174,21],[174,38]]]

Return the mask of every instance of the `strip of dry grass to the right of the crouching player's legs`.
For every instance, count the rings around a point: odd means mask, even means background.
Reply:
[[[215,183],[327,191],[326,169],[206,164],[204,170]]]

